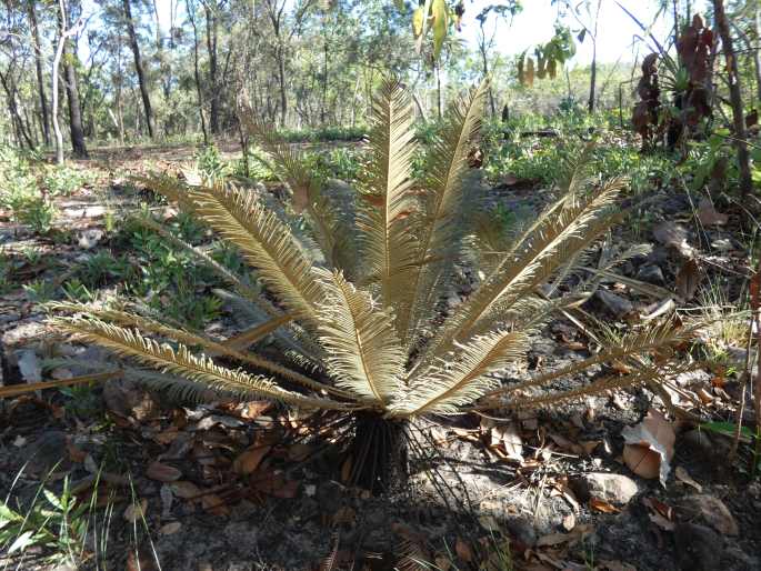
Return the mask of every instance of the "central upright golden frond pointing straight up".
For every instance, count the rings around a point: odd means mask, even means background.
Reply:
[[[399,80],[385,79],[373,101],[368,137],[372,159],[362,180],[357,224],[366,274],[380,283],[383,303],[397,309],[410,302],[409,269],[418,261],[418,239],[409,220],[414,216],[412,118],[410,96]]]

